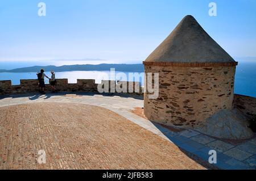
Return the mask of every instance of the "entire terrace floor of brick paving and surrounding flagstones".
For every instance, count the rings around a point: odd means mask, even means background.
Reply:
[[[255,169],[255,138],[230,144],[134,114],[141,96],[0,97],[0,169]],[[217,163],[208,163],[209,150]],[[39,164],[38,151],[46,151]]]

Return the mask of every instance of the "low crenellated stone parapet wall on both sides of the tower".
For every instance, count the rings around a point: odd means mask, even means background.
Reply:
[[[126,81],[101,81],[101,84],[95,83],[94,79],[77,79],[77,83],[68,83],[68,79],[56,79],[57,89],[61,92],[99,92],[98,86],[104,88],[108,92],[124,92],[129,94],[143,95],[143,87],[139,86],[139,82]],[[123,91],[123,86],[126,86],[126,91]],[[118,90],[119,88],[119,90]],[[10,94],[26,94],[29,92],[38,92],[37,79],[21,79],[20,85],[11,85],[11,81],[0,81],[0,95]],[[46,91],[51,91],[51,86],[46,84]],[[101,93],[101,92],[99,92]],[[238,108],[243,113],[250,116],[256,116],[256,98],[234,94],[233,106]]]

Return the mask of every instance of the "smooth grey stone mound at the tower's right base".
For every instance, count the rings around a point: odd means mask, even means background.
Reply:
[[[254,133],[249,128],[249,117],[239,110],[220,110],[196,128],[197,131],[217,138],[243,140]]]

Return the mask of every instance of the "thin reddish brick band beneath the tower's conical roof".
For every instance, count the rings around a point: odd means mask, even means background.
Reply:
[[[184,66],[184,67],[218,67],[218,66],[237,66],[238,62],[146,62],[144,65],[155,66]]]

